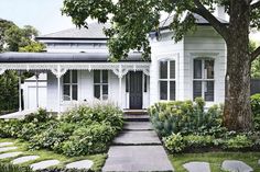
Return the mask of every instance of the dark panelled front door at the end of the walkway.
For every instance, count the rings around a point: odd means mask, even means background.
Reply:
[[[130,108],[142,108],[142,71],[130,71]]]

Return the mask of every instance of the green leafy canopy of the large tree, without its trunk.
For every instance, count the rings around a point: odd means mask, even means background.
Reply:
[[[238,0],[241,1],[241,0]],[[250,27],[260,28],[260,2],[242,0],[250,4]],[[73,18],[77,26],[87,27],[86,20],[97,19],[100,23],[111,22],[106,30],[109,36],[109,49],[113,58],[127,57],[130,49],[142,49],[144,57],[151,53],[148,33],[159,30],[162,12],[173,15],[170,30],[174,31],[175,41],[182,39],[196,27],[193,13],[209,21],[214,28],[228,41],[228,26],[220,23],[212,12],[217,5],[224,5],[231,13],[234,0],[64,0],[63,13]],[[246,7],[245,7],[246,8]],[[242,10],[242,9],[241,9]],[[260,49],[259,49],[260,50]],[[252,54],[259,54],[259,50]]]

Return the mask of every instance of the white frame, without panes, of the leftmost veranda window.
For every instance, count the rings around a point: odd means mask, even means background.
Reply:
[[[77,76],[77,82],[76,83],[73,83],[73,71],[76,71],[76,76]],[[64,78],[65,78],[65,74],[69,74],[69,82],[68,83],[65,83],[64,82]],[[63,101],[64,102],[71,102],[71,101],[78,101],[78,71],[77,70],[68,70],[66,73],[63,76]],[[68,85],[69,87],[69,100],[65,100],[64,99],[64,87],[65,85]],[[77,87],[77,99],[74,100],[73,99],[73,87],[76,85]]]

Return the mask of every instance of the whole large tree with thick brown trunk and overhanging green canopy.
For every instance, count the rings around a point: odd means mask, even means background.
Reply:
[[[229,14],[228,25],[214,16],[217,5]],[[126,58],[131,49],[141,50],[147,59],[151,54],[148,34],[160,30],[162,12],[173,15],[170,30],[175,41],[196,28],[194,13],[203,16],[227,44],[224,125],[230,130],[252,127],[250,69],[260,46],[250,51],[249,32],[260,28],[260,0],[64,0],[62,12],[79,27],[87,27],[89,18],[110,22],[105,33],[113,60]]]

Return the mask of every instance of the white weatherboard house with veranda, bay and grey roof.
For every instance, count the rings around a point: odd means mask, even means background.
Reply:
[[[72,28],[37,37],[46,45],[46,53],[0,54],[0,73],[45,73],[23,84],[25,108],[43,106],[62,112],[72,102],[95,99],[108,100],[122,110],[145,110],[159,101],[199,96],[207,105],[223,103],[226,44],[206,20],[195,16],[197,31],[178,43],[174,43],[167,27],[171,18],[162,22],[160,38],[150,35],[149,61],[134,50],[126,60],[108,61],[102,28],[109,25],[94,23],[88,30]],[[227,23],[220,18],[219,21]],[[30,91],[30,85],[35,89]]]

